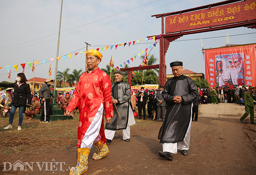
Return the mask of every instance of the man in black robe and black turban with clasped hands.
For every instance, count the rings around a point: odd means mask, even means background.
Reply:
[[[167,80],[163,88],[162,96],[167,103],[167,111],[158,135],[160,143],[163,143],[163,151],[158,154],[167,160],[173,160],[177,149],[182,150],[182,155],[188,155],[192,102],[198,96],[193,80],[182,74],[183,63],[175,61],[170,66],[174,77]]]

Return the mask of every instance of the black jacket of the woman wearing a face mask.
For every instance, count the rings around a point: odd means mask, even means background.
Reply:
[[[11,83],[11,84],[0,83],[0,86],[6,87],[6,88],[14,88],[13,100],[11,101],[11,104],[13,106],[26,107],[27,99],[28,99],[28,104],[29,105],[32,104],[32,95],[31,95],[29,84],[22,83],[19,87],[19,85],[15,81],[15,83]]]

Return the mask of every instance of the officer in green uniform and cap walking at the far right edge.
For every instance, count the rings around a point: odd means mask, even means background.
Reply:
[[[245,104],[245,114],[243,117],[240,118],[240,121],[243,123],[243,120],[249,115],[250,113],[250,123],[256,124],[254,122],[254,103],[253,99],[256,100],[256,95],[254,95],[254,87],[249,87],[248,92],[245,92],[243,95],[243,102]]]

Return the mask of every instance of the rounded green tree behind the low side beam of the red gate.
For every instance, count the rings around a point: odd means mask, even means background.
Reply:
[[[143,71],[139,71],[135,78],[132,79],[132,86],[135,84],[141,85]],[[158,76],[153,70],[144,71],[143,84],[158,84]]]

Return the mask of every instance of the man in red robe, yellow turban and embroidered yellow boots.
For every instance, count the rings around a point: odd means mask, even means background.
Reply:
[[[98,154],[93,154],[94,160],[102,159],[109,153],[104,133],[103,112],[105,110],[106,121],[110,123],[113,117],[111,80],[107,73],[98,67],[101,59],[102,54],[99,51],[86,51],[88,70],[79,78],[74,96],[66,108],[68,116],[77,106],[80,112],[76,144],[80,147],[78,161],[76,167],[70,169],[70,175],[80,175],[87,171],[88,156],[93,144],[99,150]]]

